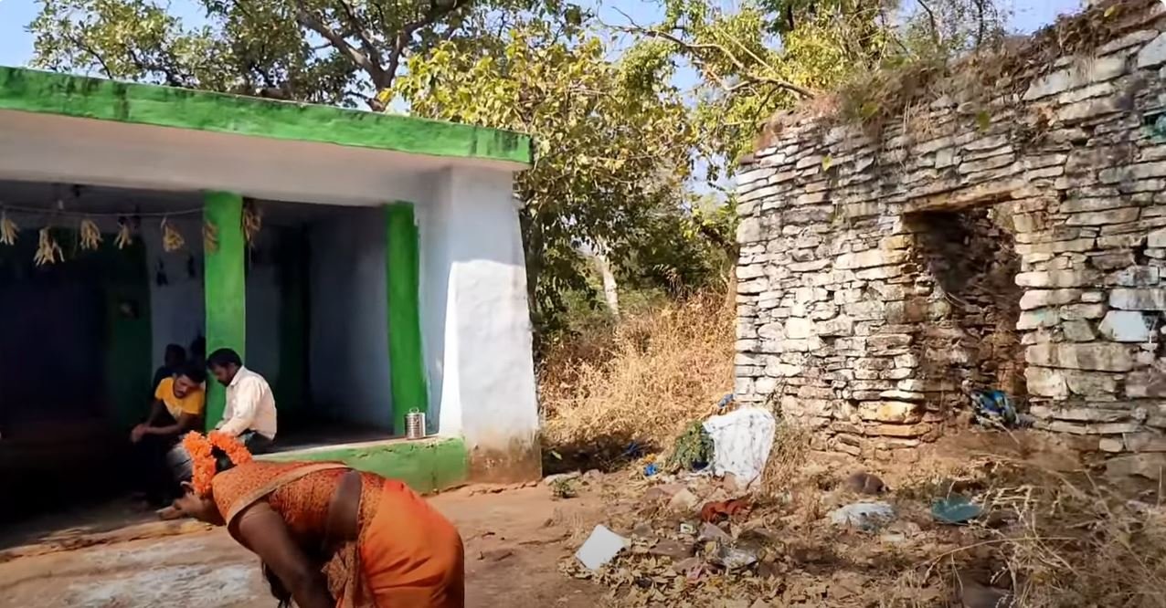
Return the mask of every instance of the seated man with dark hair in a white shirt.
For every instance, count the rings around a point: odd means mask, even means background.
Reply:
[[[226,387],[220,432],[238,437],[252,453],[260,453],[275,440],[275,396],[264,376],[243,367],[239,353],[219,348],[206,358],[206,367]]]

